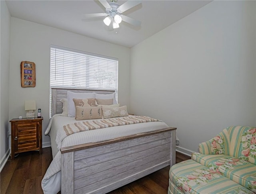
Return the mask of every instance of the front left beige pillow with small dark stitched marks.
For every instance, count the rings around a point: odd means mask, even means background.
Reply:
[[[76,120],[101,119],[101,106],[76,106]]]

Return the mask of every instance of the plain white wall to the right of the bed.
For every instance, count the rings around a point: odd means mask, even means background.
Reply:
[[[177,127],[198,151],[230,125],[256,125],[255,1],[214,1],[131,49],[134,114]]]

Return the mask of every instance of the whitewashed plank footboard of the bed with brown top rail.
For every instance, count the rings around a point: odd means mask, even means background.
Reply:
[[[61,148],[61,193],[103,194],[174,165],[175,132],[169,127]]]

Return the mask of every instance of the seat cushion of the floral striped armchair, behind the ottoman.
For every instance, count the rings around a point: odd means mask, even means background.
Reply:
[[[191,158],[256,193],[256,166],[252,163],[228,155],[193,153]]]

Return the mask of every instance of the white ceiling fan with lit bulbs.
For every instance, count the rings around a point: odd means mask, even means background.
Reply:
[[[106,13],[84,14],[85,18],[105,17],[103,20],[104,24],[109,26],[112,23],[113,29],[118,28],[119,24],[122,21],[135,26],[139,26],[141,24],[140,21],[122,14],[123,12],[129,10],[130,8],[133,8],[134,6],[140,4],[141,1],[130,0],[120,6],[117,3],[117,0],[110,0],[110,3],[108,3],[106,0],[98,0],[98,1],[106,8]]]

